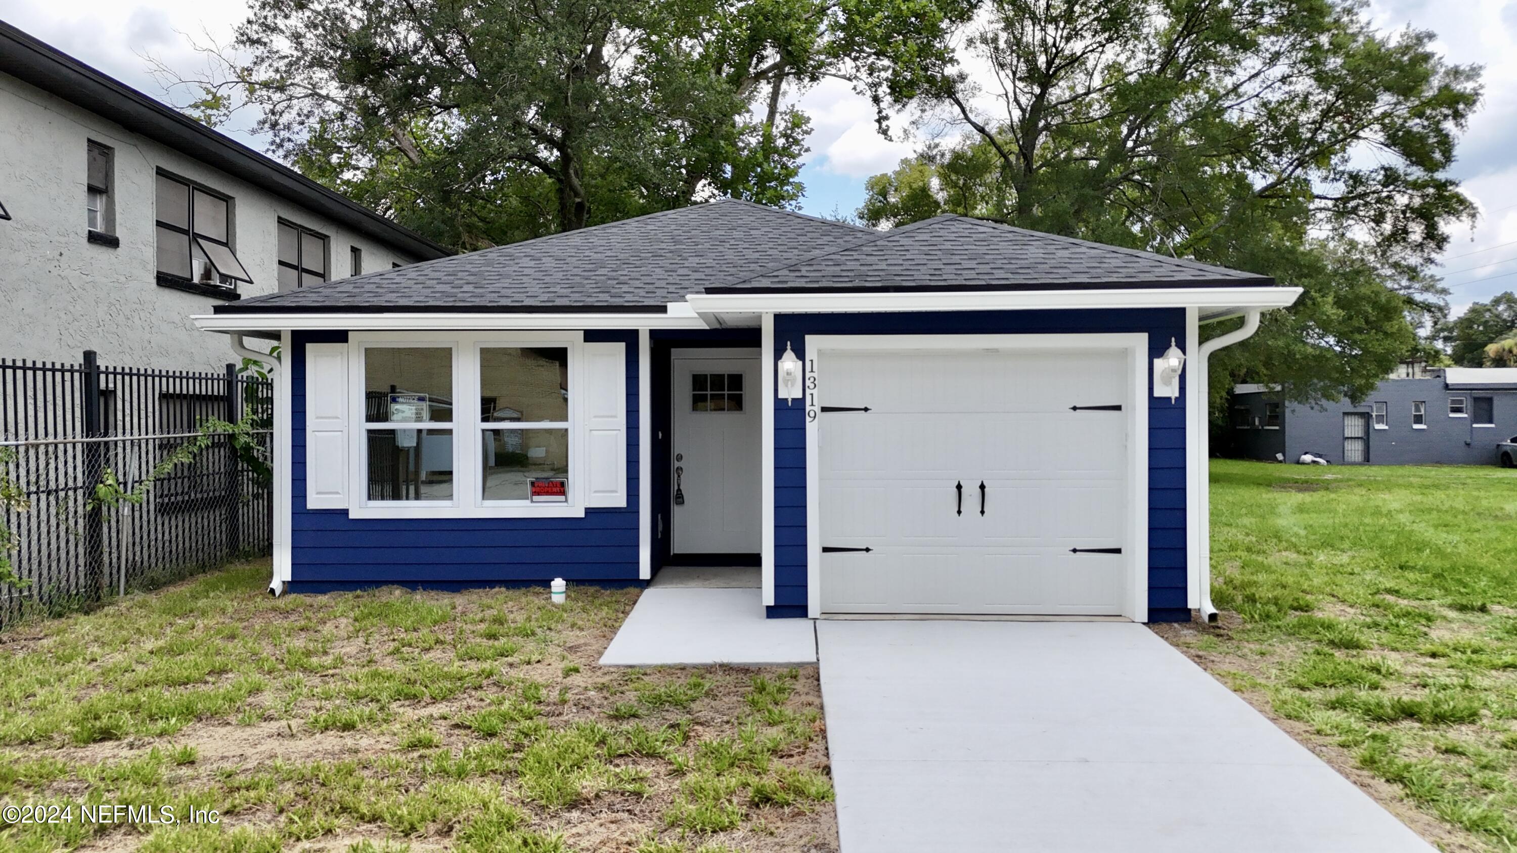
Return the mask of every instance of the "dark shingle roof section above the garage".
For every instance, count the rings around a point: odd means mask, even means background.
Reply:
[[[1012,228],[939,216],[818,253],[707,293],[775,290],[1047,290],[1077,287],[1241,287],[1273,279]]]

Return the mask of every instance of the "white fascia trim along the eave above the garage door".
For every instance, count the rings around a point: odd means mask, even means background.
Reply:
[[[1300,287],[1176,287],[1113,290],[975,290],[909,293],[692,293],[698,316],[848,311],[1003,311],[1060,308],[1283,308]]]

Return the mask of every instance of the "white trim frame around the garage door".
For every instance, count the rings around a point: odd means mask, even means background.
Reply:
[[[931,335],[804,335],[806,366],[806,596],[807,615],[822,616],[821,543],[821,466],[818,423],[810,410],[819,402],[810,393],[822,354],[839,349],[1121,349],[1127,354],[1130,376],[1124,410],[1129,425],[1127,454],[1127,606],[1123,615],[1135,622],[1148,621],[1148,335],[1121,334],[931,334]]]

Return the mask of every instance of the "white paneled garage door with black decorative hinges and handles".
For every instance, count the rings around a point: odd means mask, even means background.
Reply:
[[[821,361],[824,613],[1123,612],[1126,352]]]

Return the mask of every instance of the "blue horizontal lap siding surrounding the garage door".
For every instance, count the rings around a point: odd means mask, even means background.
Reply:
[[[806,335],[836,334],[1112,334],[1144,332],[1157,358],[1185,340],[1185,311],[978,311],[921,314],[780,314],[778,360],[789,345],[806,358]],[[1148,621],[1186,621],[1185,395],[1148,399]],[[806,615],[806,407],[771,401],[774,434],[774,601],[771,616]]]

